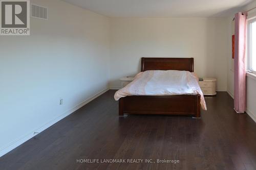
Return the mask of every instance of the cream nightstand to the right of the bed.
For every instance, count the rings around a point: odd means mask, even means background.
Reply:
[[[216,81],[214,78],[204,78],[203,81],[199,81],[199,85],[204,95],[216,95]]]

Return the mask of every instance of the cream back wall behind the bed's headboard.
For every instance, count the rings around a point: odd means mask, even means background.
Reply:
[[[227,18],[112,18],[110,86],[136,75],[141,57],[194,57],[199,77],[227,86]]]

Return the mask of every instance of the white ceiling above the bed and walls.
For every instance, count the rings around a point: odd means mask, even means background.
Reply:
[[[253,0],[62,0],[109,17],[227,16]]]

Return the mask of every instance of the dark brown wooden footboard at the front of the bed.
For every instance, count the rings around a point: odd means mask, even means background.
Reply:
[[[191,115],[200,118],[200,98],[197,95],[126,96],[119,100],[119,116],[127,114]]]

